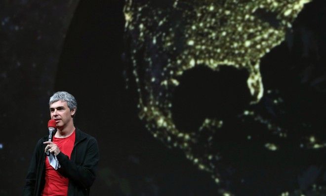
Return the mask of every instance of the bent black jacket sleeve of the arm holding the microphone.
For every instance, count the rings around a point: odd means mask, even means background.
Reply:
[[[77,154],[77,156],[83,155]],[[88,140],[84,155],[84,161],[81,165],[77,165],[73,161],[69,160],[69,157],[62,152],[57,155],[57,159],[61,166],[60,169],[63,170],[69,180],[73,180],[79,186],[87,189],[93,184],[95,180],[95,173],[99,161],[97,141],[95,138]]]

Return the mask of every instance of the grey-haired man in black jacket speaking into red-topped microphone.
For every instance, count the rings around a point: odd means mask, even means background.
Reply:
[[[76,129],[76,99],[67,92],[49,101],[57,131],[52,142],[41,138],[34,150],[26,177],[24,196],[88,196],[95,180],[99,150],[94,137]],[[50,156],[46,156],[46,151]]]

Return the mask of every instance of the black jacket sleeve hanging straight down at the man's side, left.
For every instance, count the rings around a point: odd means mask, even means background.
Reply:
[[[33,196],[35,191],[35,185],[36,185],[36,176],[37,176],[37,168],[38,168],[38,161],[39,161],[39,147],[41,145],[41,140],[38,141],[38,143],[35,146],[32,160],[27,172],[26,180],[25,180],[25,186],[23,188],[23,196]]]

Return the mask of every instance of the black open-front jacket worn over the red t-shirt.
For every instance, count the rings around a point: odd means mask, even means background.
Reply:
[[[41,138],[36,144],[23,196],[40,196],[44,188],[46,146],[43,144],[44,141],[47,141],[47,136]],[[96,139],[77,128],[71,160],[62,152],[57,155],[57,159],[61,166],[58,171],[69,178],[68,196],[88,196],[89,188],[95,180],[99,160]]]

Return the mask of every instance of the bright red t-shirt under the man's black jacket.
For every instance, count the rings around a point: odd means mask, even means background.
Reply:
[[[75,131],[73,134],[65,138],[57,138],[53,136],[52,142],[55,143],[60,151],[70,159],[75,143]],[[55,170],[45,156],[45,185],[42,196],[67,196],[68,183],[69,179]]]

